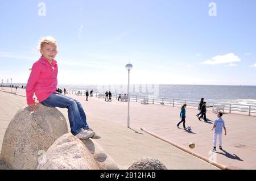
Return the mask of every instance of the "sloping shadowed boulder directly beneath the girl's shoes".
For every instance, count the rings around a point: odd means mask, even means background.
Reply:
[[[81,140],[93,155],[100,170],[118,170],[119,167],[106,151],[94,140]]]

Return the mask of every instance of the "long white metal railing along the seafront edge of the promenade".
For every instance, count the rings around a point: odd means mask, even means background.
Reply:
[[[70,90],[67,91],[68,94],[77,94],[79,91]],[[86,91],[80,91],[80,95],[85,96]],[[93,96],[98,97],[98,95],[105,94],[105,92],[93,92]],[[90,95],[90,94],[89,94]],[[112,93],[112,98],[118,99],[119,94]],[[144,99],[148,99],[148,103],[152,104],[162,104],[168,105],[170,104],[173,107],[181,106],[183,104],[187,104],[189,107],[198,107],[198,100],[187,100],[187,99],[174,99],[174,98],[163,98],[163,97],[153,97],[153,96],[143,96],[143,95],[130,95],[130,100],[135,102],[141,102]],[[247,105],[247,104],[233,104],[233,103],[217,103],[217,102],[207,102],[207,107],[214,108],[217,105],[225,105],[224,110],[232,113],[236,112],[246,112],[249,116],[252,114],[256,114],[256,105]]]

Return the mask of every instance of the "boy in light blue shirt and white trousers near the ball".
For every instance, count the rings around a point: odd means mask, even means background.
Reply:
[[[224,128],[225,135],[226,135],[226,127],[225,122],[222,119],[222,112],[217,114],[217,119],[214,121],[212,131],[214,129],[214,136],[213,136],[213,151],[216,151],[217,145],[217,137],[218,137],[218,148],[222,150],[222,128]]]

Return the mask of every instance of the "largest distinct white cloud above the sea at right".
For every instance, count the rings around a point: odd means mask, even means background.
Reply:
[[[211,60],[206,60],[202,64],[217,65],[217,64],[232,64],[233,62],[240,62],[241,58],[236,56],[234,53],[228,53],[224,55],[218,55],[213,57]]]

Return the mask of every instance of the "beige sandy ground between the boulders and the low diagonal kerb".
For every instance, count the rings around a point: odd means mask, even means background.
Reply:
[[[24,95],[24,90],[18,90],[18,94]],[[85,103],[84,96],[80,96],[79,99],[81,99],[84,107],[88,107],[88,103],[92,103],[92,101]],[[1,150],[6,128],[16,111],[26,104],[26,98],[0,91],[0,102]],[[94,108],[97,109],[97,107]],[[68,120],[67,109],[59,110]],[[91,115],[89,112],[86,115],[90,127],[96,130],[101,136],[101,139],[96,141],[106,150],[110,157],[118,163],[121,169],[127,169],[135,160],[142,157],[159,159],[168,167],[168,169],[218,169],[217,167],[185,153],[166,142],[160,141],[158,138],[152,137],[139,129],[127,129],[122,123],[106,120],[104,117],[95,117],[95,115]]]

